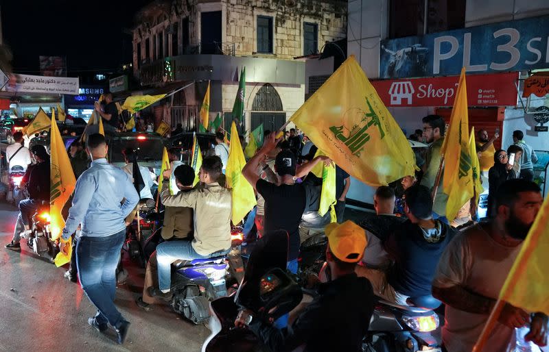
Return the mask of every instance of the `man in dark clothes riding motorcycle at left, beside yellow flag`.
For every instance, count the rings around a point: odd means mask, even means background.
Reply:
[[[35,145],[31,149],[36,165],[28,174],[27,190],[29,199],[19,202],[19,215],[15,225],[12,241],[5,244],[5,248],[21,251],[21,232],[30,229],[29,219],[36,212],[40,202],[49,203],[49,155],[42,145]]]

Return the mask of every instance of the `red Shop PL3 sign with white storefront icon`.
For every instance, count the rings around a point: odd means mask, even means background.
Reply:
[[[467,103],[477,106],[514,106],[518,73],[467,75]],[[452,106],[458,76],[372,81],[386,106]]]

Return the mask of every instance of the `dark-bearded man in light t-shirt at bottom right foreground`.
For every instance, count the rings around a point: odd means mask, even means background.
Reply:
[[[446,304],[443,342],[448,351],[473,349],[542,202],[533,182],[506,181],[495,194],[497,213],[491,223],[471,227],[446,248],[432,291]],[[514,351],[515,328],[528,325],[525,339],[544,346],[547,316],[506,303],[487,342],[489,350],[508,351],[509,346]]]

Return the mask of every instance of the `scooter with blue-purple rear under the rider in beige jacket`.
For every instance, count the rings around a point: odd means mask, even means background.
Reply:
[[[231,251],[207,259],[185,260],[173,264],[172,308],[194,324],[210,318],[209,302],[228,295],[231,279],[242,281],[244,265],[240,257],[242,231],[233,229]]]

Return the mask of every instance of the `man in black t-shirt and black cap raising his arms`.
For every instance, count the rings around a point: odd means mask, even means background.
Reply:
[[[242,169],[242,175],[265,199],[264,233],[268,234],[270,231],[279,229],[288,231],[290,236],[288,269],[296,273],[299,255],[299,223],[305,211],[306,201],[305,187],[295,184],[296,156],[288,150],[278,153],[274,162],[274,169],[279,178],[278,185],[259,179],[257,175],[259,163],[265,160],[266,155],[277,147],[280,141],[275,138],[275,135],[276,133],[273,132],[266,138],[264,146]]]

